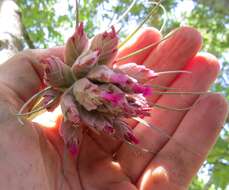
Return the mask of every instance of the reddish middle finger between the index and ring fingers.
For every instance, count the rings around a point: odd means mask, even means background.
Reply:
[[[197,54],[202,44],[200,33],[190,27],[181,27],[166,41],[160,43],[144,61],[144,65],[159,72],[184,69],[187,63]],[[176,75],[164,75],[149,82],[169,86]],[[149,98],[155,102],[159,95]]]

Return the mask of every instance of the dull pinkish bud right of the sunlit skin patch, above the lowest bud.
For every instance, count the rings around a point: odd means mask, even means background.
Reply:
[[[60,105],[66,120],[69,120],[74,124],[80,123],[79,112],[72,94],[65,92],[61,98]]]

